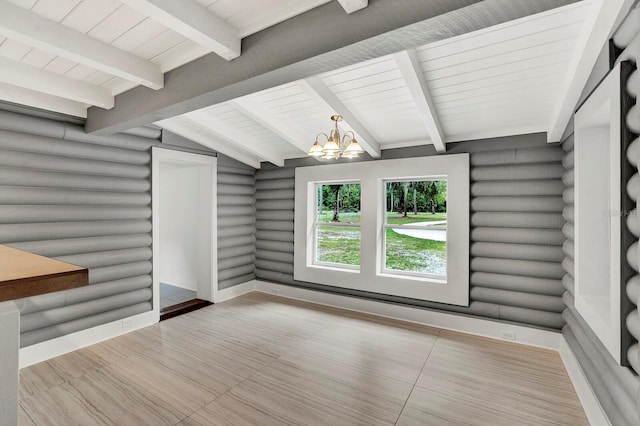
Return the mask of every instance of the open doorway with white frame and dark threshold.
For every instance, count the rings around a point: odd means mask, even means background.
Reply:
[[[217,293],[215,157],[152,149],[153,309],[158,320]]]

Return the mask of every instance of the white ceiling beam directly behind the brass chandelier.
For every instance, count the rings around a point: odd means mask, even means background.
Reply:
[[[305,80],[297,81],[298,87],[307,94],[316,104],[322,105],[329,116],[338,114],[342,116],[340,126],[345,130],[352,131],[360,146],[373,158],[380,158],[382,155],[380,144],[369,133],[366,127],[358,121],[355,115],[342,103],[340,99],[327,87],[320,77],[309,77]]]

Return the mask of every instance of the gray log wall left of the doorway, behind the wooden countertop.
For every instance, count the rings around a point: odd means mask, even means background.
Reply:
[[[153,142],[0,112],[0,244],[89,268],[17,301],[21,346],[151,310]]]

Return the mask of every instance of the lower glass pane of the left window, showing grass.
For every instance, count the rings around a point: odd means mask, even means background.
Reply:
[[[360,228],[318,225],[316,261],[360,266]]]

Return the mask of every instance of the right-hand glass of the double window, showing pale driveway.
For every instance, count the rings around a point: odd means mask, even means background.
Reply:
[[[447,181],[386,182],[385,269],[447,275]]]

